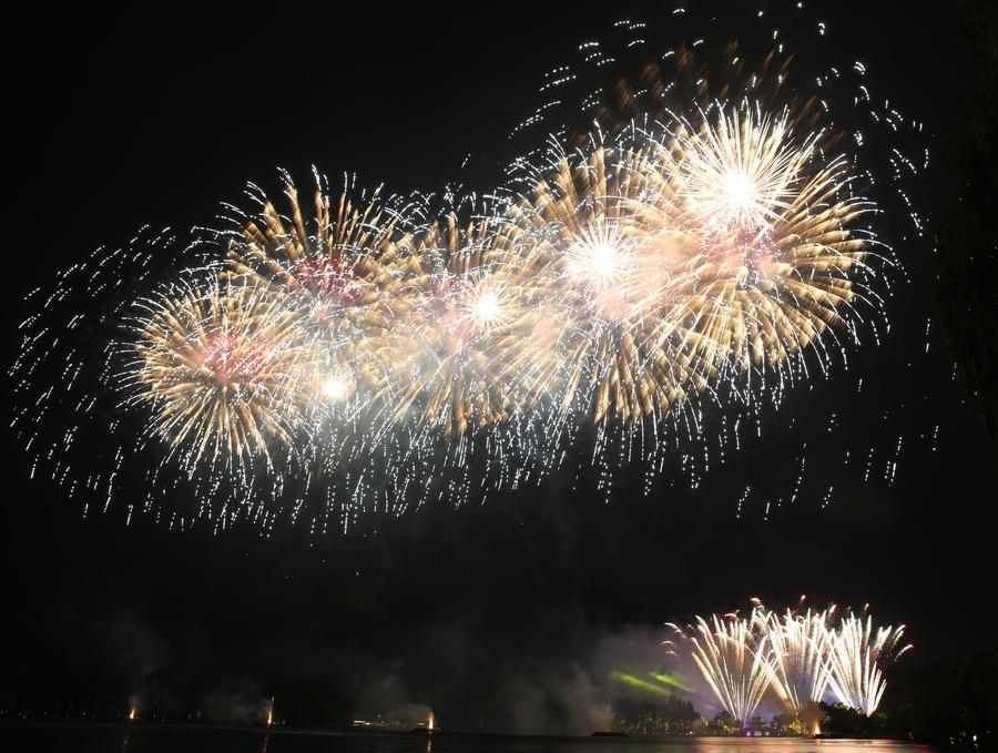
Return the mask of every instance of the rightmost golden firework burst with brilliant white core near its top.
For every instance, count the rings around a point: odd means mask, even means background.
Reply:
[[[681,123],[659,145],[645,201],[666,216],[679,204],[682,230],[697,238],[674,260],[671,316],[710,378],[778,370],[809,345],[824,360],[821,335],[852,318],[851,271],[866,254],[856,226],[870,205],[852,195],[846,161],[825,156],[822,139],[733,109],[696,130]]]

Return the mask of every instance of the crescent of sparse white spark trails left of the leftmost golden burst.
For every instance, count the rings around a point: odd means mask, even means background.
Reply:
[[[118,499],[122,471],[147,469],[131,421],[115,409],[120,395],[109,386],[118,367],[113,338],[133,296],[182,258],[169,228],[144,227],[126,246],[99,248],[61,272],[52,289],[29,295],[35,307],[20,325],[21,350],[11,368],[11,427],[24,442],[31,475],[48,472],[69,498],[81,499],[84,513]],[[149,495],[155,487],[143,484]]]

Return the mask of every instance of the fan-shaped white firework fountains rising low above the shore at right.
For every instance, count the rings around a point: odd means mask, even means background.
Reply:
[[[767,693],[808,732],[818,732],[818,702],[834,699],[869,716],[884,695],[885,664],[912,649],[905,627],[874,627],[873,617],[835,606],[784,613],[752,600],[748,617],[739,613],[696,618],[685,630],[672,624],[689,649],[714,698],[732,719],[747,726]]]

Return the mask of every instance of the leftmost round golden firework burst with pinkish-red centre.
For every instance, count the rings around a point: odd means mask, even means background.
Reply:
[[[212,282],[141,301],[125,403],[189,469],[269,465],[302,426],[315,348],[303,316],[268,288]]]

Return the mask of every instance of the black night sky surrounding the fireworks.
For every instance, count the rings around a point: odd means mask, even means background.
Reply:
[[[629,14],[613,4],[39,11],[8,65],[10,299],[142,224],[208,222],[277,165],[410,190],[454,180],[468,153],[498,162],[506,134],[537,106],[542,73]],[[829,33],[926,121],[935,149],[969,87],[956,19],[945,3],[873,4],[828,3]],[[658,7],[632,14],[668,40]],[[946,165],[934,170],[921,193],[929,214],[951,199]],[[471,177],[492,180],[488,170]],[[377,533],[212,536],[83,519],[51,484],[29,481],[8,434],[0,703],[74,709],[139,694],[175,710],[212,693],[275,694],[298,722],[410,702],[460,726],[511,729],[525,726],[515,696],[529,688],[557,718],[537,725],[568,729],[554,696],[576,682],[573,668],[595,672],[607,637],[656,635],[666,620],[752,596],[870,602],[884,621],[909,625],[912,664],[982,650],[994,642],[978,627],[995,609],[994,455],[950,378],[945,338],[921,353],[931,257],[905,251],[914,282],[892,304],[896,327],[882,350],[857,355],[870,393],[852,394],[852,376],[802,388],[695,491],[665,479],[645,498],[624,472],[608,503],[556,477],[485,506],[383,521]],[[818,425],[836,401],[835,435],[812,435],[815,481],[764,518],[766,489],[778,496],[796,476],[801,438],[787,417]],[[894,485],[842,467],[844,449],[890,447],[900,435],[912,449]],[[836,493],[823,509],[829,479]],[[746,484],[755,496],[736,517]]]

